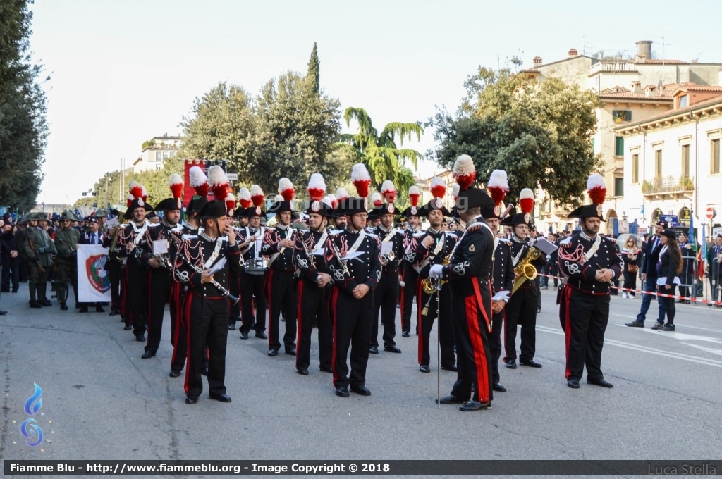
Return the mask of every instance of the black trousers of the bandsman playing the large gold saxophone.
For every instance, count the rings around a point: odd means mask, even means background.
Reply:
[[[537,276],[538,277],[538,276]],[[504,328],[504,361],[516,359],[516,329],[521,326],[521,354],[519,359],[534,359],[536,351],[536,286],[519,288],[506,304]]]

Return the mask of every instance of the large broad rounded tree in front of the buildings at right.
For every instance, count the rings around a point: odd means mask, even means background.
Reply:
[[[439,110],[430,120],[436,161],[451,167],[459,154],[469,154],[481,183],[492,170],[506,170],[510,201],[522,188],[541,188],[557,203],[578,203],[588,175],[602,164],[591,151],[596,94],[557,78],[529,82],[485,68],[469,77],[466,89],[455,117]]]

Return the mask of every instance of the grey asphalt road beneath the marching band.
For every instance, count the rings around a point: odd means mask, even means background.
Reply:
[[[640,299],[612,296],[602,368],[614,389],[571,390],[564,379],[564,336],[555,291],[542,291],[536,361],[542,369],[502,366],[508,392],[492,410],[438,407],[432,374],[417,365],[417,337],[396,338],[403,353],[372,355],[370,397],[334,395],[331,374],[309,376],[294,358],[266,356],[265,340],[228,336],[226,384],[233,402],[183,400],[183,376],[168,377],[166,312],[158,354],[119,317],[58,306],[30,309],[27,284],[3,293],[0,317],[0,457],[6,459],[651,459],[720,458],[722,310],[677,307],[677,331],[626,328]],[[654,304],[654,303],[653,303]],[[400,333],[399,320],[397,328]],[[283,329],[283,326],[282,326]],[[432,338],[435,338],[435,330]],[[315,362],[314,362],[315,361]],[[440,372],[446,395],[456,373]],[[37,383],[35,416],[45,441],[32,448],[19,428]],[[204,385],[207,390],[207,386]]]

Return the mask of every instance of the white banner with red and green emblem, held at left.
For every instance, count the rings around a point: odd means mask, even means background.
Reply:
[[[80,245],[78,249],[78,301],[110,302],[110,278],[105,271],[108,248]]]

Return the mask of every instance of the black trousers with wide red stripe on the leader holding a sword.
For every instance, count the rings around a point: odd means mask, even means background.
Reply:
[[[451,394],[461,400],[469,397],[481,403],[493,399],[491,384],[491,355],[486,317],[491,315],[490,284],[479,284],[479,296],[458,296],[452,289],[453,332],[456,338],[456,382]],[[491,321],[491,317],[489,318]],[[471,388],[474,395],[471,395]]]

